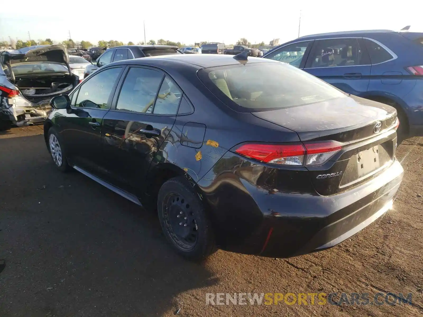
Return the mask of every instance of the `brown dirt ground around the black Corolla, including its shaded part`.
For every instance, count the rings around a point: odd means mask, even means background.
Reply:
[[[351,239],[290,259],[217,251],[200,265],[171,251],[154,214],[55,170],[40,134],[0,134],[1,317],[423,316],[422,137],[397,149],[394,210]],[[206,305],[226,292],[411,292],[412,305]]]

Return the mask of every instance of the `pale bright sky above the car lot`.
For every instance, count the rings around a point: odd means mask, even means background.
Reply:
[[[8,2],[10,3],[10,2]],[[120,5],[122,3],[123,5]],[[383,3],[383,4],[382,4]],[[280,44],[300,36],[349,30],[390,29],[423,32],[423,1],[58,1],[19,0],[3,5],[0,12],[0,40],[11,36],[27,41],[51,38],[61,42],[117,40],[125,44],[159,38],[193,44],[223,41],[234,44],[239,38],[251,43]]]

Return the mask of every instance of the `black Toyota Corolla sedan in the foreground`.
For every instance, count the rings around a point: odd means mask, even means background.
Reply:
[[[330,248],[389,210],[403,177],[394,108],[278,61],[122,60],[51,104],[55,166],[157,208],[191,259]]]

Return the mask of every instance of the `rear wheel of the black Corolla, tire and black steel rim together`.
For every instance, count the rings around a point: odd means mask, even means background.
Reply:
[[[157,211],[166,239],[183,257],[203,260],[217,250],[203,203],[184,178],[171,178],[162,185]]]

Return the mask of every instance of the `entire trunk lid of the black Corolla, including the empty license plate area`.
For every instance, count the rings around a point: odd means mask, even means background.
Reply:
[[[297,132],[302,142],[342,143],[329,161],[307,167],[321,195],[364,183],[395,159],[396,110],[385,104],[350,96],[253,115]]]

